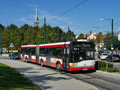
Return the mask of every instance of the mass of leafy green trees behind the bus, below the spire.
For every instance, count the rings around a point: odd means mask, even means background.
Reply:
[[[75,39],[75,34],[70,30],[71,40]],[[46,26],[46,43],[56,43],[68,41],[68,32],[64,32],[60,27]],[[15,49],[20,49],[21,45],[44,44],[44,26],[41,28],[24,24],[20,28],[11,24],[2,31],[2,47],[9,48],[10,43],[15,45]]]

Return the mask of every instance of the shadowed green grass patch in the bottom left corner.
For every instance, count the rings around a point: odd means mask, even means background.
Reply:
[[[0,90],[35,90],[35,88],[18,71],[0,63]]]

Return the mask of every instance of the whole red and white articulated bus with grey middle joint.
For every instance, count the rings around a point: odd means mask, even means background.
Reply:
[[[95,70],[95,45],[86,40],[22,45],[21,60],[58,70]]]

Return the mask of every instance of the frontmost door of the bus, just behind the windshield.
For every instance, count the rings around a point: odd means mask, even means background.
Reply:
[[[63,52],[63,70],[69,71],[69,47],[64,47]]]

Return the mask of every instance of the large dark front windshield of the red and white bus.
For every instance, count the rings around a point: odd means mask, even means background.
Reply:
[[[94,45],[93,43],[75,43],[71,51],[73,62],[82,60],[94,60]]]

